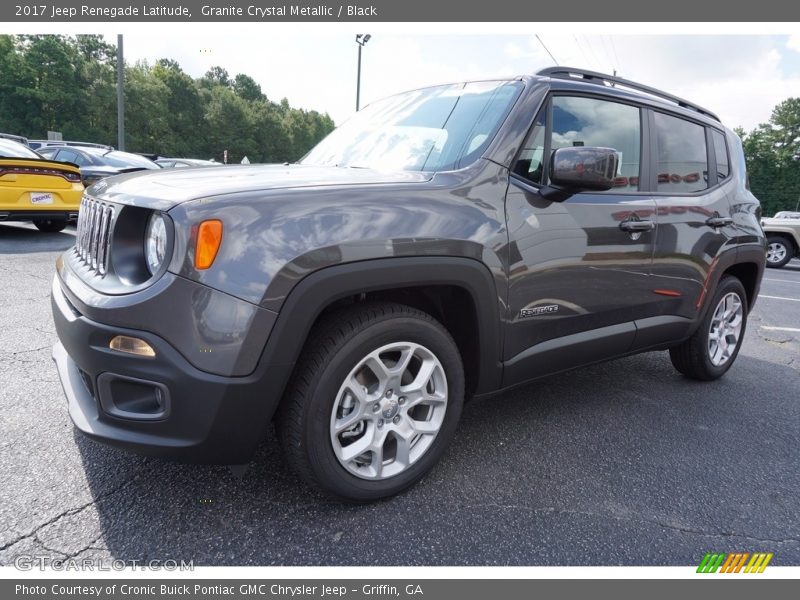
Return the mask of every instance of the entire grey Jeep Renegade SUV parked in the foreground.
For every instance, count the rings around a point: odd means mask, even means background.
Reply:
[[[647,350],[736,359],[765,261],[739,139],[564,68],[365,108],[298,164],[122,175],[61,256],[75,425],[243,464],[275,423],[316,487],[399,492],[465,398]]]

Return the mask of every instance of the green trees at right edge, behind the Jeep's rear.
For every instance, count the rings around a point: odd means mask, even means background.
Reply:
[[[800,201],[800,98],[784,100],[768,123],[748,134],[738,130],[747,158],[750,189],[763,214],[796,210]]]

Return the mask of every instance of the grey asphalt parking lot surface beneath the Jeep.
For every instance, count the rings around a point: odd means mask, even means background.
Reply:
[[[720,381],[659,352],[471,403],[420,485],[344,506],[303,487],[274,440],[235,476],[74,432],[49,304],[73,240],[0,224],[0,564],[696,565],[712,550],[800,564],[800,261],[767,271]]]

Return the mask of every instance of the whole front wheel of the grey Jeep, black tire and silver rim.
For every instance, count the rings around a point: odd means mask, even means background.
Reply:
[[[387,376],[401,359],[407,368]],[[314,328],[276,429],[287,461],[308,484],[368,502],[431,470],[455,433],[463,400],[461,355],[438,321],[401,304],[364,303]]]

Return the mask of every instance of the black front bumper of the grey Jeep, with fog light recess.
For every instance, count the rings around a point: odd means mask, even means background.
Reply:
[[[53,359],[75,426],[96,440],[187,462],[250,460],[280,400],[291,365],[260,365],[247,377],[192,366],[162,338],[93,321],[56,277],[51,296],[59,342]],[[109,349],[116,335],[145,340],[155,358]]]

